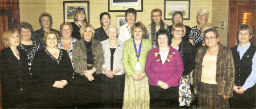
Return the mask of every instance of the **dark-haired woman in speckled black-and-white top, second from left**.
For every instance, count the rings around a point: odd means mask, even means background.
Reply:
[[[40,44],[37,41],[32,41],[31,36],[33,32],[32,25],[28,22],[21,22],[18,26],[18,31],[20,34],[20,45],[19,49],[23,49],[26,52],[27,65],[29,66],[29,72],[32,66],[32,61],[34,59],[34,55],[36,55],[37,51],[40,48]],[[30,72],[32,77],[32,73]]]

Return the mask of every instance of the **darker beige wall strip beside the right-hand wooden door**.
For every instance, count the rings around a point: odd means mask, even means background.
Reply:
[[[229,1],[228,0],[212,0],[212,23],[214,26],[219,26],[218,33],[220,36],[219,42],[227,45],[227,28],[229,27]],[[222,29],[222,21],[225,22]],[[223,34],[224,32],[224,34]]]

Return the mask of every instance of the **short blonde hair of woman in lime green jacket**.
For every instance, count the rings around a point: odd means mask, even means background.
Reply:
[[[137,28],[142,29],[142,31],[143,31],[142,38],[146,38],[146,37],[147,37],[147,35],[146,35],[147,29],[146,29],[146,27],[143,25],[143,23],[140,22],[140,21],[135,22],[135,23],[133,24],[133,26],[130,28],[130,33],[132,34],[132,37],[134,37],[134,34],[133,34],[134,29],[137,29]]]

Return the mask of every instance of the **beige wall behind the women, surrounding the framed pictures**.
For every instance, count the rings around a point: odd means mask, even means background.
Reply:
[[[43,12],[49,12],[53,17],[53,27],[59,30],[59,25],[63,22],[63,1],[70,0],[23,0],[20,1],[20,21],[30,22],[37,30],[40,28],[38,17]],[[101,12],[108,11],[107,0],[90,0],[90,22],[95,28],[100,27],[99,15]],[[213,8],[214,7],[214,8]],[[144,25],[150,24],[150,12],[153,9],[161,9],[164,12],[164,0],[143,0],[143,12],[137,12],[137,21],[142,21]],[[190,4],[190,20],[184,20],[184,24],[190,27],[197,25],[196,12],[199,9],[209,10],[208,22],[214,25],[220,25],[221,21],[225,21],[225,34],[220,37],[220,43],[227,43],[227,20],[229,12],[228,0],[191,0]],[[115,25],[116,15],[124,15],[124,12],[109,12],[111,16],[111,24]],[[219,16],[220,15],[220,16]],[[163,19],[163,18],[162,18]],[[164,20],[165,23],[171,25],[171,20]]]

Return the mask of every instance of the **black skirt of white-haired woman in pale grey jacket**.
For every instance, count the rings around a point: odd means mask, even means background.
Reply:
[[[125,74],[114,75],[111,79],[102,75],[103,108],[122,108]]]

